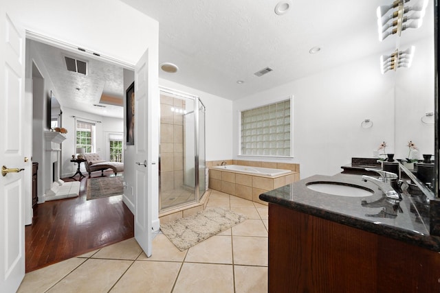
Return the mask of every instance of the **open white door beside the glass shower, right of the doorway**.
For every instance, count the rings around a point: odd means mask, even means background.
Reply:
[[[152,198],[158,196],[157,154],[151,139],[157,136],[158,108],[153,104],[156,92],[148,80],[148,49],[135,66],[135,239],[147,257],[151,256],[153,239]],[[153,111],[156,113],[153,113]]]

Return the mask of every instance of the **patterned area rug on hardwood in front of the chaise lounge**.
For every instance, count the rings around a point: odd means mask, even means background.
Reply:
[[[87,200],[124,194],[123,176],[87,179]]]

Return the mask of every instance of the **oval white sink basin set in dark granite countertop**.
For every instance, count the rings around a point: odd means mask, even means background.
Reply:
[[[338,182],[311,182],[307,183],[307,188],[322,192],[323,194],[331,194],[333,196],[349,196],[355,198],[372,196],[374,194],[373,190],[366,187]]]

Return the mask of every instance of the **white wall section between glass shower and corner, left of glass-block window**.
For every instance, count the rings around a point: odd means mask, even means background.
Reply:
[[[159,85],[200,98],[206,106],[206,161],[232,158],[232,101],[159,78]]]

